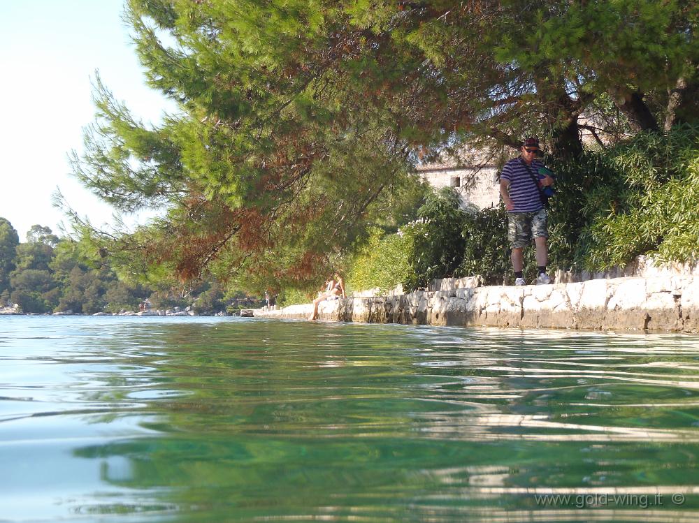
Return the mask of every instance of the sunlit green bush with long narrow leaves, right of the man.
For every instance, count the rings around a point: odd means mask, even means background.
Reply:
[[[699,239],[699,126],[640,133],[607,154],[616,179],[586,195],[582,265],[603,270],[639,254],[696,258]]]

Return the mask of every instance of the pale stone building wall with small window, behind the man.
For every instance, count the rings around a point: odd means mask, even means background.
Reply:
[[[421,168],[421,177],[435,189],[454,187],[461,196],[461,208],[475,205],[479,209],[498,205],[500,202],[500,180],[495,167],[475,169]]]

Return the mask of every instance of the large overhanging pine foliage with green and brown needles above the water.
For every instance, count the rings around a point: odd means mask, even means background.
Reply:
[[[92,236],[181,281],[317,281],[415,184],[417,152],[526,131],[579,154],[600,94],[641,128],[649,93],[670,120],[699,114],[694,2],[128,0],[124,17],[179,110],[147,126],[97,78],[73,170],[120,211],[164,209]]]

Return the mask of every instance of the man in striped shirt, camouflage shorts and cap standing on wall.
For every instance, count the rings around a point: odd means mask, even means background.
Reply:
[[[524,262],[522,249],[531,244],[534,237],[538,285],[551,283],[546,274],[548,263],[547,213],[540,189],[550,186],[554,179],[548,175],[540,177],[539,169],[544,165],[535,159],[539,151],[538,138],[526,138],[520,147],[521,155],[505,163],[500,174],[500,196],[507,209],[507,240],[512,247],[512,269],[514,284],[526,285],[522,270]]]

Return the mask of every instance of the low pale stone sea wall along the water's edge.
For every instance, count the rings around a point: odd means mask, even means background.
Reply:
[[[255,316],[305,319],[310,304]],[[594,279],[545,286],[442,280],[439,290],[322,302],[327,321],[699,332],[699,277]]]

